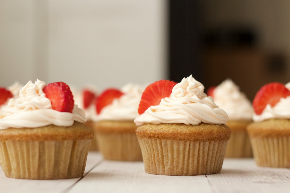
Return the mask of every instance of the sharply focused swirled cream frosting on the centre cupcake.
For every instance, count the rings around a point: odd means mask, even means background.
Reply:
[[[192,75],[176,84],[169,97],[159,105],[150,106],[134,122],[137,126],[147,123],[184,123],[198,125],[226,124],[228,115],[204,93],[204,86]]]

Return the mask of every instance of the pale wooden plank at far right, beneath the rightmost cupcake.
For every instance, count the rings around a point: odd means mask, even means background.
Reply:
[[[224,159],[219,174],[207,175],[212,193],[290,192],[290,170],[256,166],[253,159]]]

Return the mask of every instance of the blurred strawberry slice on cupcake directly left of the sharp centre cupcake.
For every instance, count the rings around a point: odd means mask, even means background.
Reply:
[[[111,104],[115,98],[119,98],[122,95],[123,93],[119,91],[118,89],[113,89],[113,88],[106,89],[95,100],[97,113],[99,114],[105,106]]]

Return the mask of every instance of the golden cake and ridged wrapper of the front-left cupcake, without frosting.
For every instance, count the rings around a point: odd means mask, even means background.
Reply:
[[[75,122],[71,127],[0,130],[0,162],[6,177],[68,179],[81,177],[93,131]]]

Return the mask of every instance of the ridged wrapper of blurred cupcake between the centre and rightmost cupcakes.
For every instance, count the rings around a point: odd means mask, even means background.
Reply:
[[[245,131],[232,131],[224,157],[253,157],[250,138]]]

